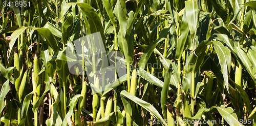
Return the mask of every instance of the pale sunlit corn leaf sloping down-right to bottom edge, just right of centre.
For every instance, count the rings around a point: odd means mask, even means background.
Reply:
[[[148,112],[150,112],[157,120],[159,121],[163,121],[162,116],[159,114],[159,112],[156,110],[156,108],[154,106],[152,106],[150,103],[147,103],[139,98],[137,98],[136,96],[133,96],[133,94],[122,90],[121,91],[121,97],[125,97],[130,99],[131,101],[137,103],[138,105],[140,105],[142,108],[146,109]],[[163,125],[167,126],[166,123],[164,123]]]

